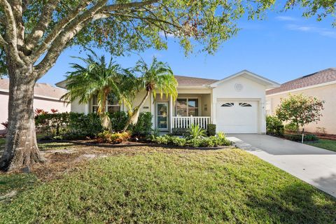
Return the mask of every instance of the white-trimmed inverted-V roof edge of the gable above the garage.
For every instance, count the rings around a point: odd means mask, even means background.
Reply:
[[[211,87],[216,87],[218,85],[220,85],[221,83],[224,83],[228,80],[231,80],[232,78],[236,78],[238,76],[243,76],[244,78],[248,78],[250,80],[253,80],[254,82],[256,83],[259,83],[260,85],[264,85],[267,89],[271,88],[271,87],[278,87],[280,86],[279,83],[276,83],[272,80],[269,80],[268,78],[265,78],[265,77],[262,77],[262,76],[259,76],[251,71],[248,71],[248,70],[243,70],[243,71],[239,71],[231,76],[228,76],[226,78],[223,78],[221,80],[218,80],[217,82],[215,83],[211,83]]]

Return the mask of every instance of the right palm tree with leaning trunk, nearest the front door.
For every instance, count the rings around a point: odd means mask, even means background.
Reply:
[[[153,94],[155,99],[156,94],[159,93],[162,97],[165,94],[167,97],[172,96],[173,100],[177,97],[177,81],[174,78],[172,69],[164,62],[158,62],[156,57],[148,66],[143,59],[137,62],[134,71],[140,73],[141,76],[134,82],[134,91],[146,91],[144,99],[134,109],[130,109],[130,118],[123,129],[125,132],[129,125],[136,125],[139,118],[139,112],[144,106],[148,97]]]

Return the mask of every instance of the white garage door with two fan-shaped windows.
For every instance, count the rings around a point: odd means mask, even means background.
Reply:
[[[258,102],[218,100],[216,112],[218,132],[258,132]]]

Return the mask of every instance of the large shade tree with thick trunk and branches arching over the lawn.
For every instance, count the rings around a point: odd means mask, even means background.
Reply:
[[[235,20],[258,17],[275,0],[0,0],[0,73],[10,79],[3,170],[41,162],[34,127],[34,85],[71,45],[113,55],[165,49],[174,36],[186,52],[193,43],[213,53],[239,30]],[[312,12],[335,13],[335,1],[304,2]],[[314,3],[311,6],[307,3]],[[313,8],[314,6],[314,8]],[[327,7],[327,8],[326,8]]]

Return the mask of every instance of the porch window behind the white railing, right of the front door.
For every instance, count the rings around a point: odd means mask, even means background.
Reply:
[[[199,116],[198,99],[181,98],[176,100],[176,116]]]

